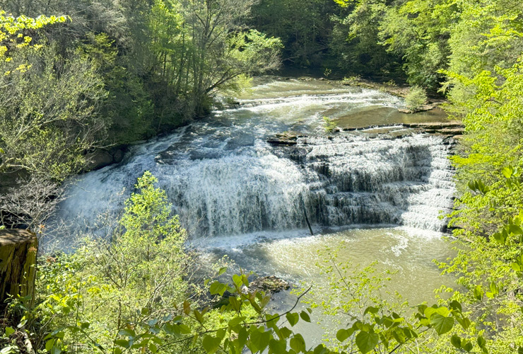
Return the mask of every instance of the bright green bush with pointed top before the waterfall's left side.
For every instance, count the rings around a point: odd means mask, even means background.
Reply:
[[[185,299],[199,296],[185,280],[195,268],[184,248],[187,234],[155,183],[148,171],[138,179],[111,240],[87,240],[74,254],[47,258],[40,267],[40,321],[54,328],[83,324],[83,336],[65,336],[66,345],[85,346],[85,352],[110,347],[127,324],[178,314]]]

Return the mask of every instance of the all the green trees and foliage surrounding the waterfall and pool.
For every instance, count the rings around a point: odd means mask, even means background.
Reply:
[[[34,304],[19,295],[4,306],[1,354],[523,353],[522,1],[0,0],[0,9],[0,229],[43,232],[64,181],[100,149],[199,120],[218,95],[281,67],[408,84],[421,101],[445,98],[465,126],[451,158],[457,256],[439,263],[457,284],[425,304],[383,302],[375,277],[326,254],[327,297],[346,299],[327,307],[348,316],[312,348],[293,327],[325,302],[272,314],[269,295],[245,292],[247,274],[229,284],[224,264],[196,267],[146,172],[110,240],[40,257]],[[206,306],[224,293],[223,306]]]

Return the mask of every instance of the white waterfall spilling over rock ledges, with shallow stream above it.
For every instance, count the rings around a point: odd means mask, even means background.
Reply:
[[[81,231],[95,228],[96,215],[120,210],[148,170],[194,238],[303,228],[304,213],[315,227],[401,224],[440,231],[440,210],[449,210],[453,193],[443,137],[323,131],[325,115],[358,126],[377,108],[387,108],[387,122],[397,123],[399,105],[379,91],[267,80],[239,107],[216,110],[134,147],[118,166],[80,176],[59,217],[76,220]],[[266,142],[289,130],[302,135],[293,146]]]

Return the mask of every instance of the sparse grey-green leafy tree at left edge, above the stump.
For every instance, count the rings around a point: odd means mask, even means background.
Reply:
[[[35,226],[59,200],[52,195],[61,194],[61,181],[80,171],[86,151],[103,139],[105,121],[96,110],[105,91],[88,59],[66,59],[28,35],[65,17],[2,13],[0,21],[0,176],[4,188],[6,181],[20,187],[3,191],[0,218],[7,226]]]

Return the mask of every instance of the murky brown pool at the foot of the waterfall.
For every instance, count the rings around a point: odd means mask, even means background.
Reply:
[[[320,232],[307,235],[307,230],[293,233],[271,233],[213,238],[206,241],[211,259],[228,255],[239,270],[254,271],[257,275],[276,275],[290,281],[294,289],[312,285],[316,295],[308,297],[321,302],[328,293],[329,279],[316,264],[325,260],[324,250],[339,249],[337,261],[351,264],[359,270],[372,263],[377,273],[390,270],[390,281],[384,282],[380,295],[389,297],[386,290],[399,292],[411,305],[435,303],[434,290],[441,285],[452,285],[449,276],[442,276],[433,262],[454,256],[452,247],[439,232],[428,232],[408,227],[379,227],[346,229],[339,232]],[[377,274],[376,273],[376,274]],[[327,289],[327,290],[325,290]],[[377,296],[377,294],[374,294]],[[390,298],[390,297],[389,297]],[[293,307],[296,296],[290,291],[273,297],[275,312]],[[343,301],[343,299],[340,299]],[[298,309],[305,309],[301,304]],[[339,328],[339,317],[322,315],[320,308],[312,312],[312,324],[303,321],[297,329],[308,338],[307,344],[318,344],[328,333]],[[321,324],[317,324],[320,321]]]

